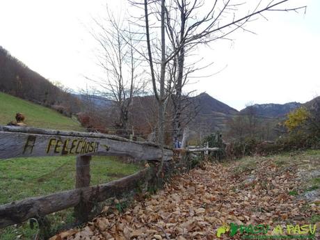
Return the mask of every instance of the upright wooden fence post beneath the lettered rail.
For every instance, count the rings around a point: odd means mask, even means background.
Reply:
[[[76,163],[76,189],[90,186],[90,160],[91,156],[79,156]],[[81,198],[74,207],[74,216],[79,223],[88,221],[88,215],[93,207],[92,202]]]

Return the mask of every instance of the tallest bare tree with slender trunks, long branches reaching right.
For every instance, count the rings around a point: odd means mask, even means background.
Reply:
[[[130,1],[130,0],[129,0]],[[143,0],[130,1],[144,10],[147,54],[154,95],[158,102],[158,142],[163,145],[164,118],[168,96],[174,93],[175,111],[173,128],[179,133],[181,125],[182,88],[187,74],[186,54],[198,45],[209,45],[227,38],[237,30],[249,31],[246,24],[255,17],[264,17],[268,11],[297,11],[303,7],[290,8],[289,0],[282,1],[203,1],[203,0]],[[279,7],[285,6],[284,8]],[[160,31],[160,33],[158,32]],[[157,39],[160,38],[160,41]],[[167,42],[166,40],[169,40]],[[158,57],[158,58],[157,58]],[[157,71],[159,70],[159,71]]]

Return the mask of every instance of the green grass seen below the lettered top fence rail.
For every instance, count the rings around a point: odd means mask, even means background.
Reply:
[[[116,157],[93,156],[90,162],[91,185],[110,182],[136,173],[141,166],[119,161]],[[75,157],[19,158],[0,161],[0,205],[38,195],[74,189]],[[49,214],[53,230],[72,223],[72,209]],[[0,230],[0,240],[33,239],[37,228],[31,230],[28,222],[19,227]]]

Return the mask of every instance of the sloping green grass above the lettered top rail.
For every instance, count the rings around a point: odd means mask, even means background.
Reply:
[[[84,130],[77,120],[67,118],[53,109],[33,104],[6,93],[0,93],[0,103],[0,125],[7,125],[8,122],[15,120],[16,113],[23,113],[26,116],[25,123],[30,127],[74,131]]]

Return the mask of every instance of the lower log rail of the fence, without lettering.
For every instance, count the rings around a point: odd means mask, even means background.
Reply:
[[[129,175],[107,184],[88,186],[35,198],[26,198],[1,205],[0,227],[22,223],[29,218],[45,216],[69,207],[76,207],[81,202],[102,202],[108,198],[121,196],[136,188],[141,182],[150,179],[152,175],[152,168],[145,168],[134,175]]]

